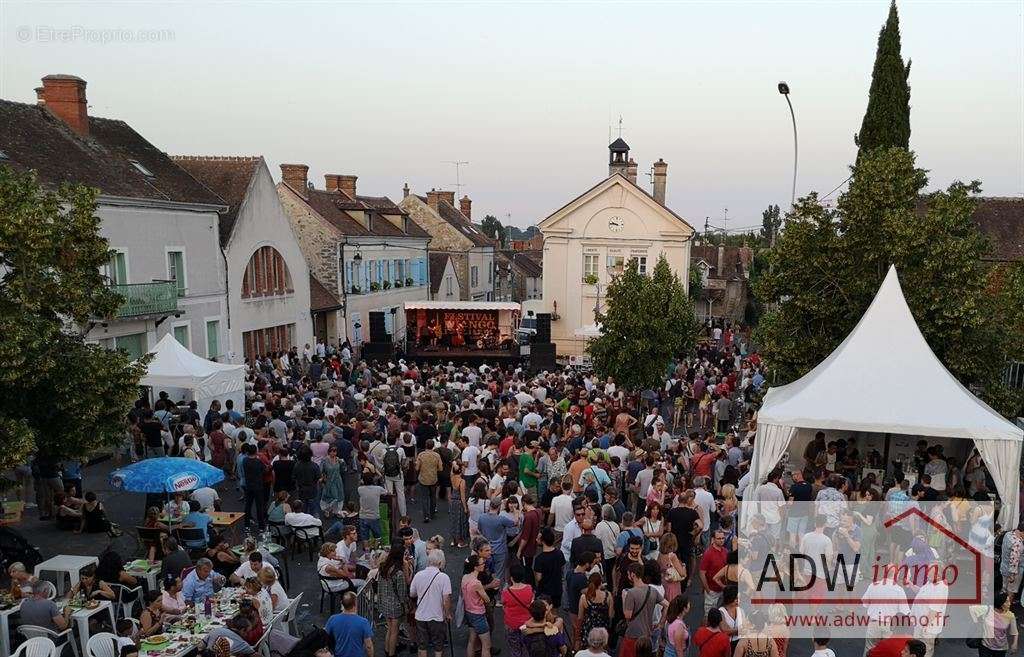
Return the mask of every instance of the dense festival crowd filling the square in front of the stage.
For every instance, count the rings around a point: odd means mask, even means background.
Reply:
[[[252,531],[322,538],[317,574],[342,603],[326,626],[335,657],[374,654],[372,624],[356,610],[368,585],[386,657],[414,645],[439,656],[452,626],[465,627],[466,654],[480,657],[830,657],[824,637],[803,652],[791,645],[784,610],[746,617],[739,608],[750,577],[738,557],[742,498],[980,498],[984,466],[974,454],[961,467],[925,443],[905,466],[920,475],[912,488],[901,472],[858,478],[868,455],[821,433],[804,463],[750,481],[766,378],[748,345],[741,331],[719,327],[645,391],[581,370],[365,362],[347,344],[307,345],[247,363],[245,409],[214,402],[200,417],[195,402],[163,394],[153,408],[139,402],[122,456],[209,461],[238,487]],[[201,518],[215,501],[197,493],[177,502],[204,529],[206,555],[191,580],[173,581],[191,560],[173,538],[155,549],[165,569],[171,562],[164,596],[188,600],[229,579],[254,582],[257,598],[269,592],[273,609],[287,605],[266,583],[276,582],[273,557],[256,550],[241,562]],[[859,550],[873,519],[769,512],[754,522],[757,540],[744,548],[763,554],[814,535]],[[982,641],[982,655],[1017,644],[1009,605],[1024,579],[1024,525],[1006,536],[998,585],[1010,596],[999,618],[1010,620]],[[462,575],[453,581],[445,566],[456,552]],[[864,654],[930,657],[935,641],[873,636]]]

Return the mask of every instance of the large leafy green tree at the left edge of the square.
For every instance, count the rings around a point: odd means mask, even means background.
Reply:
[[[144,365],[77,328],[122,301],[100,272],[97,193],[0,167],[0,471],[33,449],[80,456],[123,438]]]

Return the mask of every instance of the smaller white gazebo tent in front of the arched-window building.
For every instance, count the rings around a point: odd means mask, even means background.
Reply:
[[[171,399],[195,400],[201,417],[214,399],[221,405],[227,399],[237,409],[245,408],[245,365],[214,362],[188,351],[174,336],[167,334],[153,350],[146,374],[139,382],[154,393],[166,391]]]

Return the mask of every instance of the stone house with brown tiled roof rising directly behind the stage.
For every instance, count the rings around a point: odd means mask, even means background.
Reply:
[[[430,234],[430,251],[452,256],[462,301],[493,301],[497,245],[471,221],[469,196],[463,196],[457,209],[454,191],[431,189],[420,196],[406,185],[403,193],[399,206]]]

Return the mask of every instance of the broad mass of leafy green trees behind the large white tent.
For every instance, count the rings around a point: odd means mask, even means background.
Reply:
[[[1001,301],[981,260],[987,240],[971,218],[980,185],[954,182],[924,195],[927,184],[911,152],[877,148],[862,154],[836,210],[813,193],[798,202],[756,283],[762,304],[777,304],[757,338],[779,383],[803,376],[842,342],[895,264],[943,364],[1001,411],[1014,410],[1001,384],[1011,348]]]

